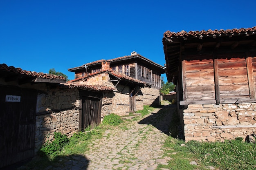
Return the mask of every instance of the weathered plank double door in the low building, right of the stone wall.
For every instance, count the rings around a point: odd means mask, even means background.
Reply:
[[[82,130],[101,123],[101,106],[101,98],[83,97]]]

